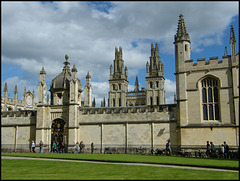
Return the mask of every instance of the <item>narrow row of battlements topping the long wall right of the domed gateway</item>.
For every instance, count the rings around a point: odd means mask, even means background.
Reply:
[[[175,104],[153,105],[153,106],[129,106],[129,107],[101,107],[80,108],[80,114],[118,114],[118,113],[147,113],[147,112],[171,112],[176,109]]]

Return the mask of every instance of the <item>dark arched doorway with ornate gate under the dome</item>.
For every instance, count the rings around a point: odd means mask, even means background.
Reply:
[[[65,121],[62,119],[55,119],[52,121],[51,127],[51,148],[55,143],[61,145],[62,149],[59,151],[65,151],[67,148],[67,129]],[[61,148],[60,147],[60,148]]]

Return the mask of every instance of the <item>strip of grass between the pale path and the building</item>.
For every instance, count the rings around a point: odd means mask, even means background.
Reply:
[[[62,159],[81,159],[95,161],[122,161],[122,162],[141,162],[141,163],[162,163],[207,167],[230,167],[239,168],[238,160],[225,159],[204,159],[175,156],[152,156],[152,155],[129,155],[129,154],[56,154],[56,153],[2,153],[6,156],[23,156],[38,158],[62,158]]]

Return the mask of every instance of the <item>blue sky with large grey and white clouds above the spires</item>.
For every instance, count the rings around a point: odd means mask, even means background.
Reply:
[[[26,87],[27,91],[34,89],[37,102],[42,67],[49,90],[68,54],[70,68],[76,65],[83,89],[89,71],[92,97],[100,106],[103,98],[108,99],[115,47],[122,47],[128,90],[132,91],[136,76],[139,88],[146,88],[151,43],[158,43],[166,103],[172,104],[176,93],[173,42],[180,14],[190,35],[194,62],[215,56],[221,60],[225,46],[231,54],[231,25],[239,52],[238,1],[1,1],[1,95],[7,82],[10,97],[17,85],[19,99]]]

